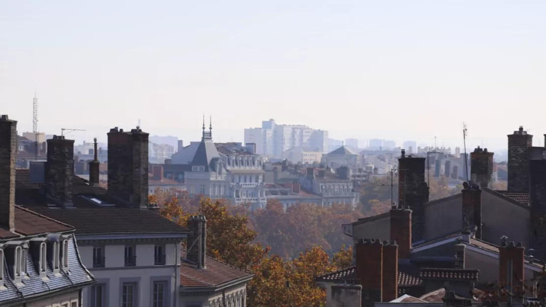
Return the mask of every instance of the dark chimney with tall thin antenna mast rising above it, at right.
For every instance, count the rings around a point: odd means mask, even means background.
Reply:
[[[482,239],[482,189],[476,184],[462,183],[462,228],[476,227],[476,238]]]

